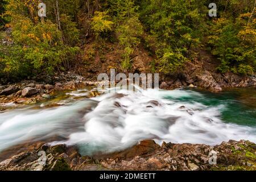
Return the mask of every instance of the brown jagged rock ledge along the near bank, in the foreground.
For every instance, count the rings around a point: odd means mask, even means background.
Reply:
[[[145,140],[137,146],[113,154],[81,156],[74,147],[49,147],[37,143],[29,150],[0,163],[0,170],[255,170],[256,145],[249,141],[205,144],[163,143]],[[45,152],[42,162],[39,151]],[[39,153],[40,154],[40,153]]]

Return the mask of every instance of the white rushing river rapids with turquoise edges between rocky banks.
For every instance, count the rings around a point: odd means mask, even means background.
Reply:
[[[61,93],[38,105],[0,113],[0,152],[15,145],[79,147],[82,155],[126,149],[144,139],[172,143],[256,142],[256,90],[119,89],[85,98],[90,89]],[[13,106],[13,105],[11,105]]]

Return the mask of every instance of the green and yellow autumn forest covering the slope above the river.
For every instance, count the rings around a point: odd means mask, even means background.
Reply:
[[[0,0],[0,77],[76,71],[114,44],[120,69],[145,49],[152,72],[175,74],[199,50],[216,58],[216,72],[254,75],[254,0]],[[216,3],[217,16],[209,16]],[[87,45],[92,45],[88,48]],[[102,51],[104,47],[104,51]]]

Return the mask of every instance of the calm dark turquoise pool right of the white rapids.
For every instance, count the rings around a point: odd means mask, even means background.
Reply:
[[[186,89],[185,89],[186,90]],[[191,90],[191,89],[187,89]],[[256,126],[256,89],[255,88],[234,88],[226,89],[221,93],[211,93],[203,90],[193,89],[204,97],[184,96],[176,98],[176,101],[199,102],[212,107],[217,106],[221,112],[220,118],[226,123],[237,125]],[[172,97],[166,97],[173,100]],[[223,106],[223,107],[221,107]]]

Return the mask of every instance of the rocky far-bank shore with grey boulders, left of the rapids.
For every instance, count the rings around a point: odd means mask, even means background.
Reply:
[[[49,100],[56,92],[74,90],[85,86],[96,86],[97,81],[87,81],[73,73],[61,73],[50,80],[23,80],[13,84],[0,85],[0,110],[5,106],[32,105]]]

